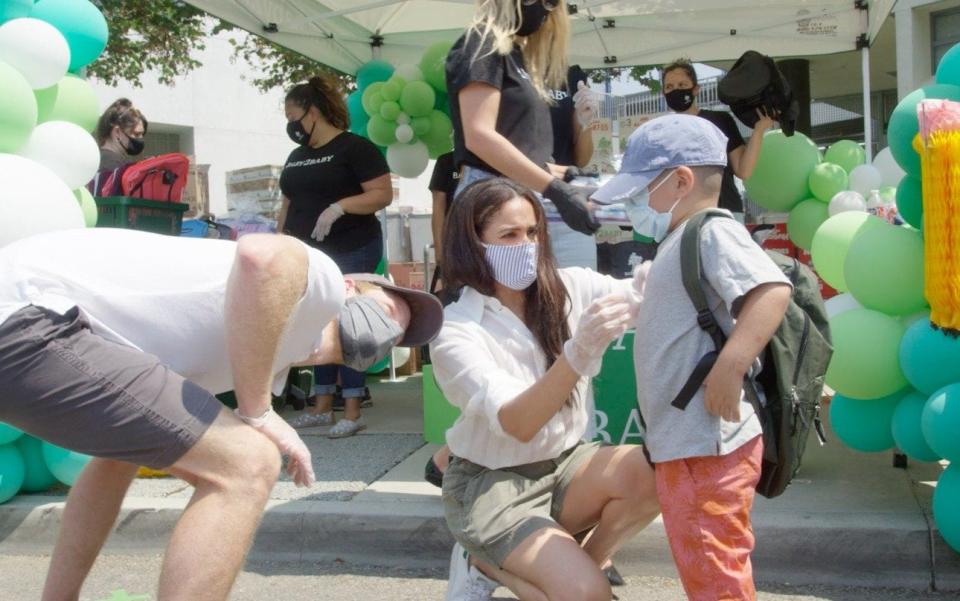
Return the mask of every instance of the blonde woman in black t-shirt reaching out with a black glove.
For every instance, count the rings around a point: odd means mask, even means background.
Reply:
[[[552,169],[549,88],[567,75],[569,17],[559,0],[484,0],[447,55],[459,190],[504,175],[553,201],[586,234],[598,224],[586,195]],[[561,177],[556,177],[560,175]]]

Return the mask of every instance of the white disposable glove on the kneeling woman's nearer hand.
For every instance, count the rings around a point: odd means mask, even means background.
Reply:
[[[630,325],[630,301],[610,294],[593,301],[580,315],[577,330],[563,345],[563,356],[573,371],[592,378],[600,373],[603,353]]]

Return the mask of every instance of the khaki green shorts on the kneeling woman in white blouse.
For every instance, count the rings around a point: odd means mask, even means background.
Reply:
[[[453,538],[476,559],[502,567],[534,532],[561,528],[567,488],[599,448],[598,442],[580,443],[556,459],[498,470],[451,457],[443,474],[443,511]]]

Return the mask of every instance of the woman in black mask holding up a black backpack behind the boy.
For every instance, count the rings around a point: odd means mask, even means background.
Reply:
[[[753,128],[750,141],[744,143],[743,136],[740,135],[740,130],[730,113],[710,111],[697,106],[700,86],[697,84],[697,72],[690,61],[675,60],[662,69],[660,78],[664,98],[671,110],[703,117],[727,136],[727,167],[723,171],[719,206],[732,213],[740,213],[742,220],[743,199],[733,182],[733,176],[736,175],[743,180],[753,174],[753,168],[756,167],[757,159],[760,157],[763,134],[773,127],[776,115],[768,116],[757,109],[760,119]]]

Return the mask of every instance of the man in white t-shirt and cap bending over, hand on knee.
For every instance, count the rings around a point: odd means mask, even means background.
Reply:
[[[74,484],[44,599],[76,599],[137,468],[195,487],[159,599],[226,599],[287,456],[310,451],[271,406],[293,365],[365,369],[421,346],[439,301],[344,276],[289,236],[238,242],[123,229],[51,232],[0,249],[0,421],[93,455]],[[215,393],[234,390],[238,408]]]

